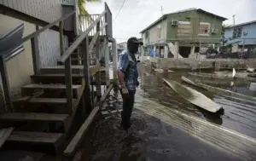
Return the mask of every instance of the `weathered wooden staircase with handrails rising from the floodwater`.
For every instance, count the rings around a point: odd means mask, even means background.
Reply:
[[[28,147],[46,145],[54,147],[56,152],[62,152],[67,147],[67,149],[71,149],[67,155],[69,157],[73,155],[85,130],[100,108],[99,106],[94,107],[93,102],[95,101],[91,101],[95,88],[90,86],[95,85],[97,96],[102,96],[98,101],[103,101],[108,95],[101,93],[102,66],[99,63],[102,55],[106,55],[104,48],[108,47],[108,37],[112,36],[112,26],[111,28],[107,27],[112,23],[112,15],[110,10],[106,9],[99,14],[99,17],[86,31],[74,40],[66,51],[63,48],[63,20],[75,14],[74,11],[22,39],[24,42],[27,40],[32,42],[34,75],[31,76],[31,83],[20,88],[21,97],[15,101],[10,98],[5,60],[0,56],[0,61],[3,61],[0,62],[3,64],[0,68],[2,67],[3,90],[7,105],[7,112],[0,114],[0,129],[14,127],[6,145],[14,143],[15,147],[20,147],[22,150],[23,145],[28,145]],[[110,21],[101,26],[102,18]],[[58,24],[60,28],[61,59],[56,60],[59,66],[39,69],[38,35],[55,24]],[[89,32],[94,27],[96,34],[90,37]],[[111,34],[108,33],[102,37],[100,33],[105,28]],[[101,41],[102,39],[104,41]],[[100,45],[104,48],[100,49]],[[80,52],[79,56],[77,56],[78,52]],[[96,57],[95,65],[90,64],[92,56]],[[108,63],[108,61],[106,62]],[[107,80],[105,80],[105,84],[107,84]],[[108,88],[108,93],[112,87]],[[89,106],[90,108],[88,108]],[[74,121],[77,116],[82,118],[82,123],[79,124],[80,129],[73,131],[73,126],[77,125],[77,122]],[[83,134],[76,135],[77,131],[82,131]],[[73,141],[74,135],[78,137],[75,141]],[[72,143],[70,146],[69,141],[76,142],[76,144]]]

